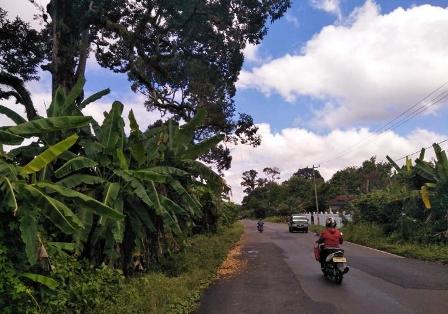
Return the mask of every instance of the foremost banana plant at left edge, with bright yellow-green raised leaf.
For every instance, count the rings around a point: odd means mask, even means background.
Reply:
[[[68,204],[82,203],[98,214],[122,219],[123,216],[111,207],[75,190],[55,185],[37,178],[61,154],[68,151],[78,136],[73,134],[48,147],[26,165],[20,166],[0,159],[0,201],[1,215],[19,223],[20,235],[25,244],[28,262],[33,265],[38,253],[45,252],[40,234],[39,222],[47,220],[62,233],[70,235],[84,225]]]

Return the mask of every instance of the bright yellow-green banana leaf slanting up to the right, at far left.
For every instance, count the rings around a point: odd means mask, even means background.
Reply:
[[[40,171],[48,164],[50,164],[53,160],[55,160],[59,155],[72,147],[77,140],[78,135],[73,134],[60,141],[59,143],[50,146],[47,150],[36,156],[32,161],[25,165],[22,168],[21,173],[24,175],[28,175]]]

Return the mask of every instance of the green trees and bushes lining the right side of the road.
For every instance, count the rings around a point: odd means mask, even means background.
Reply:
[[[342,228],[348,241],[402,256],[448,262],[448,160],[444,150],[433,145],[435,159],[425,160],[425,149],[417,159],[406,159],[400,167],[391,158],[375,157],[360,167],[336,172],[325,182],[317,170],[299,169],[278,183],[269,176],[275,167],[265,168],[264,178],[255,170],[243,173],[245,215],[281,221],[291,213],[316,211],[314,181],[319,208],[326,211],[332,200],[339,212],[352,214],[353,221]],[[271,169],[271,170],[269,170]],[[341,197],[342,196],[342,197]],[[334,205],[334,203],[333,203]],[[321,226],[311,226],[318,232]]]

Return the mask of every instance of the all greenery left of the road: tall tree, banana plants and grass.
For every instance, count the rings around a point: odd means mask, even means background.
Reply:
[[[1,312],[190,311],[241,232],[226,144],[260,144],[235,112],[243,50],[290,1],[31,2],[33,25],[0,8]],[[88,95],[92,64],[163,119]],[[27,90],[41,77],[48,104]]]

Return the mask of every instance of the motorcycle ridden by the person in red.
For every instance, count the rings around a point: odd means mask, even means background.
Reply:
[[[320,246],[314,245],[314,257],[320,262]],[[324,277],[337,284],[341,284],[344,275],[349,271],[347,258],[344,256],[344,250],[340,248],[326,248],[325,261],[321,265]]]

